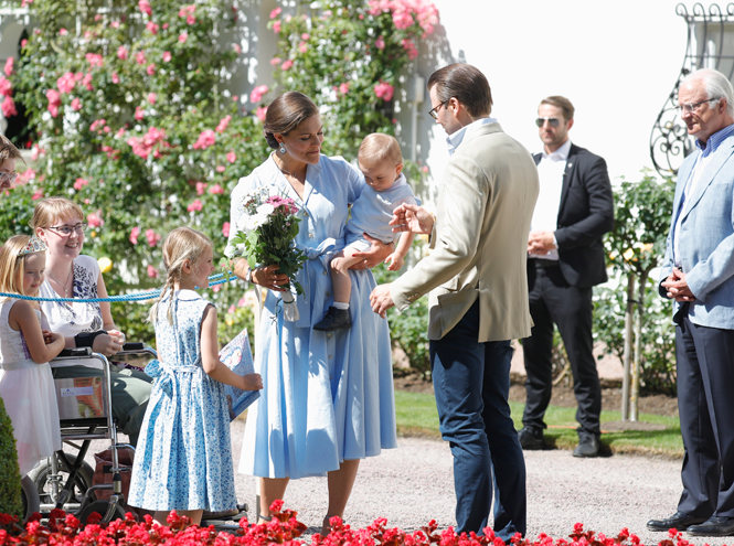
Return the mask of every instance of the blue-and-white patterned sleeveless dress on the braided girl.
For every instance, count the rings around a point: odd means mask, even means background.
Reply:
[[[224,385],[201,365],[200,332],[211,306],[193,290],[159,306],[155,322],[159,361],[130,482],[129,504],[147,510],[228,511],[236,507],[230,414]]]

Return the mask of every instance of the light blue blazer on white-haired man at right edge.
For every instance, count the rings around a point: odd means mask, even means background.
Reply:
[[[682,212],[679,251],[682,270],[695,296],[689,308],[694,324],[734,330],[734,135],[727,137],[713,152],[701,179],[688,197]],[[666,257],[660,271],[662,282],[673,268],[672,233],[680,200],[691,169],[701,154],[691,153],[678,172],[671,227],[666,244]],[[666,295],[661,286],[660,293]],[[681,303],[673,303],[673,320]]]

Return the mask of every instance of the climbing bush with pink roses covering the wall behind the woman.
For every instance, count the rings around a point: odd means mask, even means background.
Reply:
[[[221,254],[231,192],[270,151],[262,131],[274,93],[301,90],[330,113],[326,129],[334,154],[354,157],[359,143],[341,120],[363,132],[390,130],[385,101],[398,93],[395,74],[409,73],[409,56],[437,24],[433,4],[423,0],[361,2],[353,20],[338,9],[341,0],[332,12],[298,17],[275,3],[265,15],[278,45],[265,66],[272,61],[278,92],[258,82],[235,97],[241,89],[226,75],[249,55],[237,22],[242,4],[134,0],[109,13],[82,12],[71,26],[39,11],[62,12],[64,0],[25,1],[36,28],[21,44],[23,61],[9,60],[0,74],[3,114],[20,110],[19,97],[34,105],[26,110],[33,142],[22,143],[33,149],[34,167],[22,173],[13,199],[30,204],[44,194],[70,195],[100,221],[94,211],[102,207],[105,228],[86,245],[128,264],[130,277],[110,271],[115,290],[156,286],[160,278],[148,275],[149,265],[161,263],[156,237],[188,225],[192,214]],[[68,130],[72,124],[77,130]],[[6,237],[12,235],[10,210],[0,211]],[[128,285],[130,278],[139,286]],[[233,297],[226,286],[216,292],[223,309]],[[119,314],[135,321],[132,331],[152,336],[139,313],[126,307]]]

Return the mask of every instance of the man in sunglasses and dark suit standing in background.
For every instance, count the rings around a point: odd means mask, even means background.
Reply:
[[[536,124],[543,152],[534,156],[541,191],[528,238],[528,288],[534,326],[522,340],[528,403],[519,432],[523,449],[542,449],[551,402],[553,324],[574,376],[578,446],[574,457],[599,452],[602,388],[592,352],[592,289],[607,280],[602,236],[614,227],[611,184],[604,159],[568,139],[574,107],[544,98]]]

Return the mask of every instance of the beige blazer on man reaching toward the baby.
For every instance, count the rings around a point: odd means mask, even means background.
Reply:
[[[438,191],[430,254],[395,280],[398,310],[427,292],[428,339],[440,340],[479,298],[479,342],[530,335],[528,234],[538,169],[499,124],[478,127],[456,149]]]

